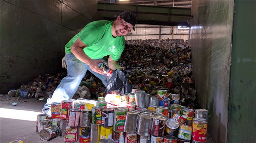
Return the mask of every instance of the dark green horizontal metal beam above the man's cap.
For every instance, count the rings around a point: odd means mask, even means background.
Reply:
[[[98,2],[98,17],[105,20],[114,20],[125,10],[130,10],[137,15],[137,24],[178,26],[181,23],[186,24],[186,20],[191,17],[190,8]]]

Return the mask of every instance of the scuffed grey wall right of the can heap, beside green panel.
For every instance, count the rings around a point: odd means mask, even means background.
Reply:
[[[208,131],[227,142],[233,0],[192,0],[190,41],[197,99],[210,115]]]

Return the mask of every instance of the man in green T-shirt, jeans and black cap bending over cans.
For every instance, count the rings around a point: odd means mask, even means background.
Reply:
[[[132,29],[135,30],[136,22],[137,17],[133,12],[124,11],[114,21],[90,22],[77,33],[65,45],[67,77],[62,79],[52,98],[47,100],[43,113],[51,115],[52,102],[72,99],[87,70],[101,79],[105,87],[107,77],[99,68],[101,63],[108,64],[112,70],[125,70],[125,67],[119,65],[118,60],[125,48],[124,36]],[[106,62],[103,58],[108,55]]]

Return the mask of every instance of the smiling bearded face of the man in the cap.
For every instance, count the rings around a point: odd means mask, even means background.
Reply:
[[[118,16],[112,27],[112,35],[114,37],[127,35],[132,30],[132,28],[132,24],[125,22],[125,20]]]

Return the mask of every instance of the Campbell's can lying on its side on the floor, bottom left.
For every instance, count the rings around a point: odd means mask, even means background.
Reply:
[[[48,141],[49,139],[53,138],[53,137],[57,137],[59,135],[59,128],[58,126],[50,126],[46,129],[43,129],[42,131],[40,131],[40,139],[42,141]]]

